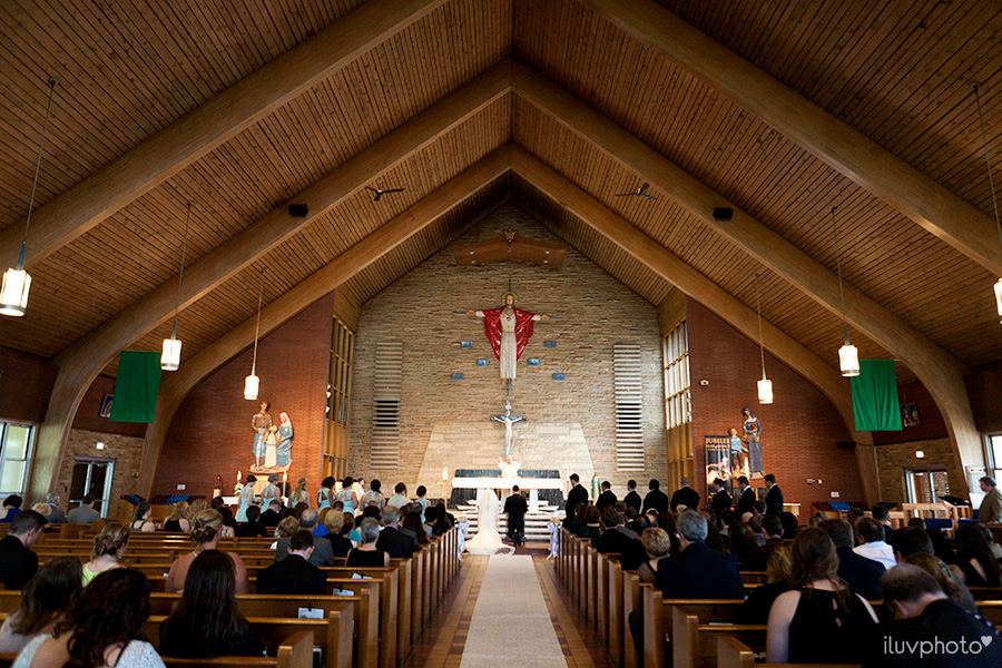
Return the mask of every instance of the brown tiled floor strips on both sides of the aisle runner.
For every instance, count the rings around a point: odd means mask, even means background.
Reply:
[[[459,577],[432,617],[406,662],[406,668],[459,668],[488,559],[479,556],[464,557]],[[611,668],[608,650],[601,647],[597,633],[589,629],[573,601],[567,596],[557,579],[553,562],[547,561],[544,554],[533,556],[532,561],[567,665]],[[503,648],[498,649],[499,664],[503,665]]]

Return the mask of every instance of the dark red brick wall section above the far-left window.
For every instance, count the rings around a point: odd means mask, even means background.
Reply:
[[[47,360],[0,347],[0,418],[45,420],[56,373]]]

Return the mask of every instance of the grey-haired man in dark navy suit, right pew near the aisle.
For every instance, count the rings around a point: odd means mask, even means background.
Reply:
[[[676,520],[680,551],[658,564],[655,587],[665,598],[744,599],[737,559],[706,547],[707,521],[687,510]]]

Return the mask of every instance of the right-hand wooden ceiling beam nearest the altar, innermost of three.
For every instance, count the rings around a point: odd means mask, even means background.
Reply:
[[[745,306],[719,285],[670,253],[657,240],[633,227],[539,158],[522,148],[514,148],[511,154],[511,170],[609,242],[622,248],[637,262],[716,313],[731,327],[752,341],[758,340],[758,318],[755,311]],[[762,337],[763,345],[769,351],[769,354],[800,374],[828,397],[845,421],[846,429],[854,441],[863,444],[873,443],[870,432],[856,431],[852,391],[848,381],[842,377],[837,370],[766,321],[763,321]],[[867,481],[870,478],[872,477],[866,477],[861,471],[862,480]],[[864,487],[871,488],[866,490],[871,498],[877,498],[877,490],[873,489],[874,481],[872,479]]]

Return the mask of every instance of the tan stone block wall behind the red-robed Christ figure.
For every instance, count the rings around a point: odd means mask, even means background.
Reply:
[[[458,239],[468,244],[512,227],[519,234],[561,243],[515,206],[507,205]],[[595,471],[625,493],[630,478],[664,478],[665,410],[657,310],[573,248],[557,269],[521,263],[459,267],[452,248],[432,256],[363,306],[355,340],[348,473],[409,487],[441,480],[442,466],[495,466],[504,429],[491,415],[504,412],[505,387],[480,318],[454,311],[500,305],[509,279],[519,307],[563,320],[536,324],[512,383],[513,451],[525,468]],[[404,347],[400,462],[376,470],[370,448],[373,364],[380,342]],[[472,347],[461,347],[472,341]],[[544,342],[556,342],[546,347]],[[615,453],[612,346],[638,343],[644,365],[646,470],[618,471]],[[528,358],[539,366],[528,366]],[[489,360],[478,366],[477,360]],[[452,380],[453,373],[464,374]],[[563,373],[562,381],[553,380]],[[590,459],[590,462],[589,462]],[[413,489],[413,487],[411,487]]]

